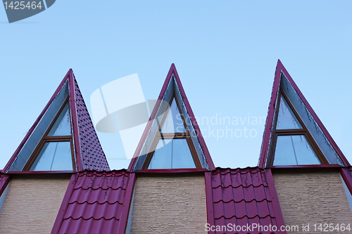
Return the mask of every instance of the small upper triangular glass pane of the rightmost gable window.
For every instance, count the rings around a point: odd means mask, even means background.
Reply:
[[[281,96],[279,104],[279,115],[277,117],[276,129],[301,129],[294,112],[289,107],[287,101]]]

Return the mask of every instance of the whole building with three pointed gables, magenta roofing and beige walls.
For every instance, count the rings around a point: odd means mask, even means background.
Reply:
[[[215,167],[172,64],[111,170],[69,70],[0,173],[0,233],[352,233],[351,171],[280,61],[257,167]]]

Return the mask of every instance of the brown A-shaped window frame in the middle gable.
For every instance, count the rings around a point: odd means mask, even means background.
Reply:
[[[186,129],[186,132],[176,132],[176,133],[161,133],[161,128],[165,122],[166,116],[168,115],[168,112],[170,111],[171,108],[171,104],[172,104],[172,100],[174,100],[175,98],[175,102],[177,104],[177,108],[180,112],[181,118],[182,118],[182,122],[184,125],[184,129]],[[156,118],[156,121],[158,122],[158,119]],[[146,170],[149,167],[149,164],[151,163],[151,158],[154,155],[154,152],[156,150],[156,145],[158,144],[159,140],[162,139],[182,139],[185,138],[187,141],[187,145],[189,147],[189,150],[191,151],[191,156],[193,158],[194,164],[196,165],[196,169],[201,169],[201,162],[199,160],[199,157],[196,153],[196,148],[194,148],[193,145],[193,141],[191,139],[191,134],[189,134],[189,129],[187,127],[186,121],[184,119],[184,115],[182,114],[182,110],[180,107],[180,103],[177,100],[177,97],[175,95],[175,93],[172,93],[171,97],[170,97],[170,101],[169,101],[169,105],[167,110],[164,112],[163,114],[163,118],[161,119],[161,122],[158,123],[158,130],[156,132],[156,136],[154,136],[153,139],[153,143],[151,144],[151,149],[152,151],[148,153],[148,155],[146,155],[146,160],[144,161],[142,170]]]

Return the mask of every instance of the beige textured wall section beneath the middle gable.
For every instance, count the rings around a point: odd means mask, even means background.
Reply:
[[[206,233],[204,176],[139,177],[131,233]]]

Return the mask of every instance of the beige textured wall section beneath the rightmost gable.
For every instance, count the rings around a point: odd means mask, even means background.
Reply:
[[[273,172],[273,177],[285,224],[298,225],[298,233],[313,233],[314,223],[351,223],[352,230],[352,213],[338,171]],[[302,223],[310,223],[310,232],[302,231]]]

